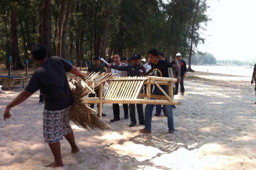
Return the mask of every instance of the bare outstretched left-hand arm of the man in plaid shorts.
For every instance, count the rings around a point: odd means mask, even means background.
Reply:
[[[23,90],[14,100],[9,103],[4,110],[4,120],[9,119],[11,117],[10,110],[12,107],[17,106],[18,104],[24,102],[32,93]]]

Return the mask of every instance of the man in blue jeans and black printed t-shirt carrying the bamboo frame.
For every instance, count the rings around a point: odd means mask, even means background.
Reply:
[[[156,49],[152,49],[148,51],[148,57],[150,58],[151,67],[153,68],[153,75],[157,77],[169,77],[168,68],[176,68],[177,69],[177,82],[180,82],[180,67],[167,62],[166,60],[158,59],[158,51]],[[168,86],[161,86],[162,89],[169,94]],[[163,95],[161,90],[158,87],[155,87],[152,94],[155,95]],[[163,105],[167,114],[167,123],[168,123],[168,133],[174,133],[174,121],[173,121],[173,111],[171,105]],[[151,133],[151,121],[152,121],[152,113],[154,109],[154,104],[146,104],[145,107],[145,118],[144,118],[144,129],[140,129],[139,131],[142,133]]]

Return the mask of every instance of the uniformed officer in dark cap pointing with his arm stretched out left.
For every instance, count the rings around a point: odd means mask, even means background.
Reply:
[[[133,76],[142,76],[145,73],[145,68],[140,65],[141,56],[139,54],[133,54],[133,63],[134,65],[128,65],[128,66],[116,66],[111,65],[110,68],[119,70],[119,71],[128,71],[128,75]],[[143,93],[143,88],[142,91]],[[139,124],[144,124],[144,113],[143,113],[143,104],[136,104],[138,117],[139,117]],[[135,126],[137,123],[135,118],[135,104],[129,104],[129,111],[130,111],[130,118],[131,118],[131,124],[129,127]]]

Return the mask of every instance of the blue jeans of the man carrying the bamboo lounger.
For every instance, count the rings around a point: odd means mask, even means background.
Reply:
[[[169,94],[168,86],[161,86],[162,89]],[[162,91],[159,90],[158,87],[155,87],[152,94],[156,95],[163,95]],[[167,124],[169,131],[174,131],[174,122],[173,122],[173,110],[172,105],[163,105],[166,110],[167,117]],[[144,118],[144,125],[146,130],[151,131],[151,121],[152,121],[152,113],[154,110],[154,104],[146,104],[145,107],[145,118]]]

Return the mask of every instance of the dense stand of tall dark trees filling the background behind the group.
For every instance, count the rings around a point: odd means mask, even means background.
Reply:
[[[0,62],[13,58],[20,69],[33,63],[31,47],[43,43],[48,55],[80,63],[114,53],[132,56],[157,48],[172,60],[185,58],[204,42],[206,0],[2,0]],[[192,48],[191,48],[192,46]],[[74,62],[73,62],[74,63]]]

